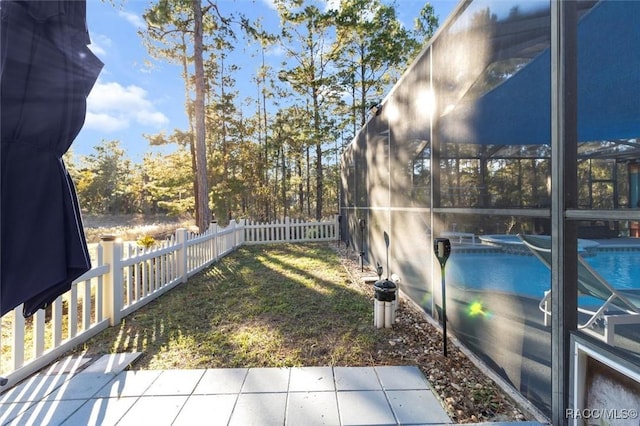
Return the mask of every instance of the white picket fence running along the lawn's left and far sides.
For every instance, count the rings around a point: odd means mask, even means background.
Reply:
[[[95,266],[49,308],[25,320],[18,306],[0,318],[0,377],[8,381],[0,393],[243,244],[336,239],[337,217],[326,222],[231,221],[225,228],[212,224],[202,234],[178,229],[149,249],[105,237]]]

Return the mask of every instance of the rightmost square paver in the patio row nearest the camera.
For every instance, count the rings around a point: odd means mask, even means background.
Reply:
[[[387,397],[400,424],[452,423],[431,390],[388,391]]]

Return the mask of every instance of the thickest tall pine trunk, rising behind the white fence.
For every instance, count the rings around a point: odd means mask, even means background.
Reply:
[[[202,8],[200,0],[192,0],[194,18],[194,64],[196,76],[196,181],[198,182],[198,192],[196,205],[198,222],[196,225],[200,232],[204,232],[209,227],[211,221],[211,211],[209,210],[209,185],[207,184],[207,155],[206,137],[204,122],[204,65],[202,58]]]

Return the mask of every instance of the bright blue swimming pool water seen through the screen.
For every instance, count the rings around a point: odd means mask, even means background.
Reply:
[[[598,251],[585,260],[616,288],[640,289],[640,251]],[[551,272],[535,256],[507,253],[456,253],[446,266],[448,285],[517,293],[541,298]]]

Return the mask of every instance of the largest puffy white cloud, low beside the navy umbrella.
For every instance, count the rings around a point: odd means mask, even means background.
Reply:
[[[139,86],[98,80],[87,98],[86,128],[108,133],[132,125],[159,129],[168,123],[167,116],[156,109]]]

